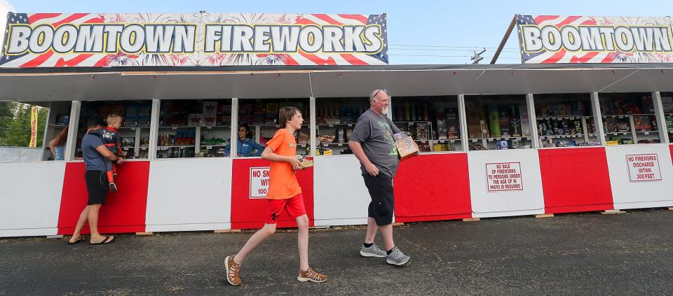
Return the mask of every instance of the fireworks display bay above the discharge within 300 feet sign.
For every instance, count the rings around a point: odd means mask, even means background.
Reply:
[[[599,102],[606,145],[661,143],[651,93],[601,93]]]

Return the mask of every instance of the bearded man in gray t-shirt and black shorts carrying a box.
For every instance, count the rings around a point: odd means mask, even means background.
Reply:
[[[388,118],[390,97],[386,90],[374,90],[369,94],[369,109],[360,115],[353,128],[348,146],[360,160],[362,178],[369,190],[367,234],[360,247],[364,257],[386,257],[391,265],[404,265],[411,258],[400,251],[393,242],[393,178],[400,164],[393,134],[400,132]],[[376,230],[381,230],[386,250],[374,244]]]

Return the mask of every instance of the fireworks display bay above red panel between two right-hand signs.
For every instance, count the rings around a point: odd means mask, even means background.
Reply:
[[[535,94],[541,148],[600,146],[590,94]]]

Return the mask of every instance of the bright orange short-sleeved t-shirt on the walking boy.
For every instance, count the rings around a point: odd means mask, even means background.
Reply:
[[[273,153],[283,156],[297,155],[297,142],[287,129],[278,129],[273,139],[266,142]],[[301,193],[301,188],[294,175],[292,164],[288,162],[271,162],[268,172],[268,192],[266,199],[289,199]]]

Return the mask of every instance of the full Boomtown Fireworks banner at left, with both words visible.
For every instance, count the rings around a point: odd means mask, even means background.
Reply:
[[[8,13],[1,67],[388,64],[386,15]]]

